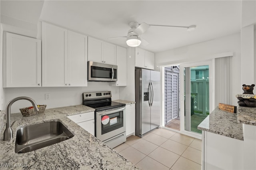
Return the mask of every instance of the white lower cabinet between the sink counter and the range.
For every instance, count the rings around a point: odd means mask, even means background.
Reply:
[[[77,125],[84,128],[87,132],[95,136],[94,112],[81,113],[78,115],[68,116]]]

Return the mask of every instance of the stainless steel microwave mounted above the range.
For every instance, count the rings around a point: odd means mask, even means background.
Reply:
[[[88,81],[117,81],[117,65],[88,61]]]

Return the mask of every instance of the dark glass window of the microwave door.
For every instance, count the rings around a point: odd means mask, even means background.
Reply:
[[[111,78],[111,68],[91,66],[91,77],[94,78]]]

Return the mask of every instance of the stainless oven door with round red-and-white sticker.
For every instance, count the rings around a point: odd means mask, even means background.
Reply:
[[[126,131],[125,107],[96,112],[96,137],[105,141]]]

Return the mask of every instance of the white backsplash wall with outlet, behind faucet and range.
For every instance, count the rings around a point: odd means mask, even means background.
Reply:
[[[37,105],[47,105],[46,109],[82,104],[82,93],[90,91],[111,91],[112,100],[119,99],[119,87],[111,86],[108,82],[88,82],[88,87],[21,87],[4,88],[6,93],[5,105],[19,96],[31,97]],[[45,100],[45,94],[50,94],[50,100]],[[20,108],[31,106],[26,100],[16,101],[11,113],[20,112]]]

